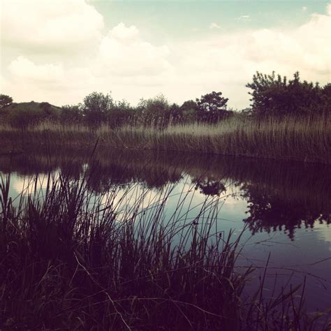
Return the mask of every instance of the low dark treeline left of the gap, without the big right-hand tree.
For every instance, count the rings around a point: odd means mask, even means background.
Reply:
[[[3,99],[5,96],[2,95]],[[7,96],[6,96],[7,97]],[[10,97],[8,97],[10,98]],[[11,99],[11,98],[10,98]],[[206,122],[215,123],[233,114],[226,107],[228,99],[221,92],[205,94],[196,101],[186,101],[181,106],[170,104],[162,94],[141,99],[133,107],[127,101],[115,101],[110,94],[92,92],[78,105],[61,108],[50,103],[12,103],[0,110],[4,122],[18,128],[50,119],[61,124],[85,124],[92,127],[108,124],[111,127],[124,124],[165,127],[169,124]]]

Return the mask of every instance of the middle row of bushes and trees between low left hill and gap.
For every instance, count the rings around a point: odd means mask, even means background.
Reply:
[[[179,106],[170,104],[163,94],[159,94],[154,98],[141,99],[133,107],[125,100],[114,101],[110,94],[93,92],[79,105],[64,106],[61,121],[85,122],[92,126],[104,123],[112,127],[123,124],[164,127],[187,122],[215,123],[233,114],[227,109],[228,98],[221,95],[221,92],[212,91]]]

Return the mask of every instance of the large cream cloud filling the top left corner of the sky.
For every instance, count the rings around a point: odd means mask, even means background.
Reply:
[[[1,21],[1,43],[29,52],[80,51],[103,29],[102,15],[84,0],[2,0]]]

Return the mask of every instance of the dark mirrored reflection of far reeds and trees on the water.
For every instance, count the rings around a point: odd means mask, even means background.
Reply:
[[[54,172],[78,179],[83,174],[88,187],[105,193],[112,185],[140,183],[161,190],[189,175],[195,189],[207,196],[232,196],[247,201],[251,233],[285,231],[291,240],[295,230],[331,222],[331,170],[328,165],[234,159],[141,151],[57,149],[27,151],[0,156],[0,171],[18,176]],[[86,171],[85,171],[86,170]],[[17,189],[18,191],[18,189]]]

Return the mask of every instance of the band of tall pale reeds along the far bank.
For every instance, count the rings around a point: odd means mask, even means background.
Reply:
[[[0,126],[6,148],[27,144],[94,145],[123,149],[198,152],[270,159],[331,163],[331,117],[287,117],[254,120],[233,117],[218,124],[184,124],[155,128],[45,122],[22,129]]]

